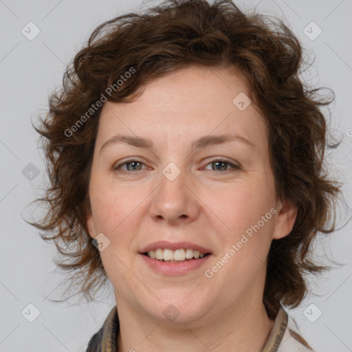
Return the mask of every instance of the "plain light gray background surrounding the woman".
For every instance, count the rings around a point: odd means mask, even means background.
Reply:
[[[61,85],[65,65],[97,25],[122,12],[146,9],[157,3],[0,0],[2,352],[85,351],[89,338],[115,304],[111,289],[89,305],[77,300],[64,304],[50,301],[61,298],[59,284],[63,278],[52,262],[54,245],[42,241],[38,231],[22,219],[30,216],[28,204],[46,182],[43,155],[37,147],[38,136],[31,120],[35,122],[44,112],[48,94]],[[327,156],[331,174],[345,183],[344,197],[347,204],[351,203],[352,1],[236,3],[243,10],[256,5],[259,12],[283,17],[306,47],[307,55],[316,56],[304,77],[314,85],[335,91],[330,125],[333,135],[342,138],[342,144]],[[40,30],[33,40],[28,39],[35,34],[33,25],[28,25],[30,21]],[[28,26],[32,26],[30,30]],[[319,28],[322,33],[317,36]],[[348,221],[349,207],[342,207],[339,214],[342,221]],[[317,241],[318,259],[329,257],[345,265],[319,280],[311,278],[311,289],[319,296],[309,294],[300,307],[289,312],[316,351],[352,351],[351,247],[351,222]],[[36,311],[29,304],[40,312],[33,322],[28,319],[35,318]],[[142,351],[142,345],[138,351]]]

